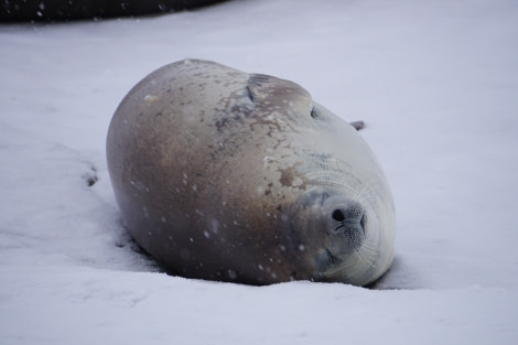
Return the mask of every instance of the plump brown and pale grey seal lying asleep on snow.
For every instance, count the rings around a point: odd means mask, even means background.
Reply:
[[[122,220],[173,274],[365,285],[393,257],[377,159],[301,86],[199,60],[159,68],[108,130]]]

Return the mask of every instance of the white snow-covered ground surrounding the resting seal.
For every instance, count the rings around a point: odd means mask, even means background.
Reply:
[[[517,42],[511,0],[0,25],[0,344],[516,343]],[[184,57],[292,79],[366,121],[399,224],[376,289],[188,280],[138,251],[106,132],[138,80]]]

